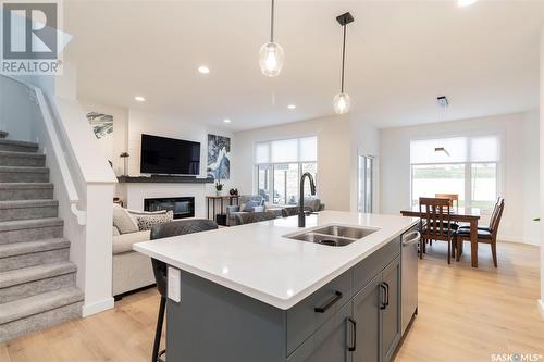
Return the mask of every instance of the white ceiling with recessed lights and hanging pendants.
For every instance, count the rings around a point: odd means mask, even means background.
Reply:
[[[265,1],[65,1],[65,58],[79,98],[178,115],[233,130],[332,114],[342,28],[350,11],[351,115],[379,127],[539,105],[540,1],[279,1],[277,78],[258,64]],[[207,64],[211,73],[197,72]],[[147,101],[137,103],[134,96]],[[447,114],[436,104],[446,95]],[[295,111],[287,104],[295,103]],[[230,125],[222,120],[232,120]]]

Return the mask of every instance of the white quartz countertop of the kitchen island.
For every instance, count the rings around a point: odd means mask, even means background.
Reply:
[[[416,224],[411,217],[322,211],[306,229],[330,224],[379,230],[345,247],[285,238],[297,216],[138,242],[134,250],[287,310]]]

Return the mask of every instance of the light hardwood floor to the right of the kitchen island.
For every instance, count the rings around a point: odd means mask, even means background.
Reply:
[[[420,261],[419,314],[395,361],[484,362],[492,353],[544,361],[539,248],[499,242],[495,269],[490,246],[480,245],[479,267],[472,269],[470,251],[448,266],[445,245],[434,242]]]

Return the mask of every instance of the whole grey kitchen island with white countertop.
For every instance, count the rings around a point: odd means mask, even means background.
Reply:
[[[292,238],[330,225],[368,235],[342,247]],[[169,361],[387,362],[401,334],[401,235],[415,225],[323,211],[304,229],[293,216],[134,249],[182,271],[169,275],[181,297],[168,301]]]

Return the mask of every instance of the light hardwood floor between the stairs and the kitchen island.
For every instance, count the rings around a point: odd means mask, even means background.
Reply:
[[[146,289],[112,310],[0,345],[0,361],[149,362],[158,311],[157,290]]]

